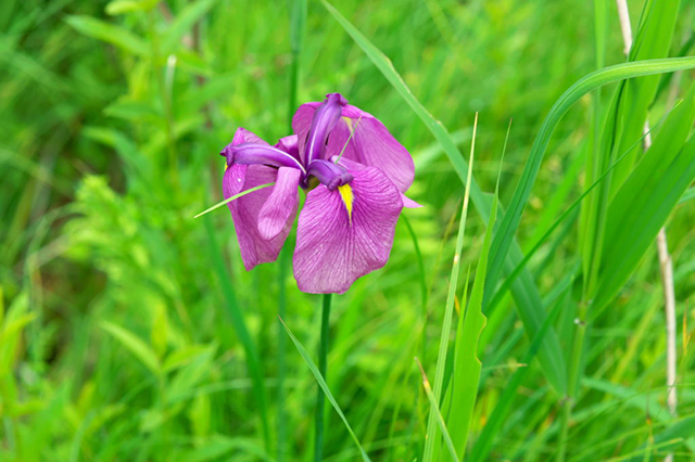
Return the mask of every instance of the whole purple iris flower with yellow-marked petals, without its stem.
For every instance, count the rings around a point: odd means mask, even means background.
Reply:
[[[343,293],[383,267],[413,183],[413,158],[372,115],[340,93],[300,106],[295,134],[270,145],[239,128],[222,152],[227,159],[225,198],[266,183],[228,203],[247,270],[274,261],[299,207],[294,278],[303,292]]]

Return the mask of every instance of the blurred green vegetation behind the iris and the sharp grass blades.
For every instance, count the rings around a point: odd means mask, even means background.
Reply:
[[[630,2],[633,25],[642,4]],[[479,113],[473,172],[493,192],[501,170],[502,203],[553,103],[597,67],[592,2],[334,5],[392,60],[462,152]],[[609,65],[624,56],[612,2],[606,11],[599,52]],[[673,54],[688,50],[692,25],[693,4],[684,2]],[[237,127],[270,142],[288,134],[289,7],[3,0],[0,30],[0,460],[276,460],[278,445],[286,460],[308,460],[316,385],[278,335],[278,266],[243,270],[226,207],[192,218],[222,200],[218,153]],[[379,117],[416,162],[408,195],[425,207],[405,215],[418,248],[402,220],[387,267],[334,297],[329,356],[329,386],[372,459],[412,461],[429,410],[413,357],[433,374],[463,185],[427,127],[318,1],[308,1],[299,69],[299,103],[341,92]],[[601,98],[609,101],[615,88]],[[527,251],[582,192],[590,106],[579,101],[551,141],[517,234]],[[695,208],[686,205],[668,224],[682,415],[695,412],[687,386]],[[464,275],[484,229],[471,213]],[[543,295],[576,268],[576,236],[568,220],[532,259]],[[571,460],[631,454],[670,419],[659,281],[654,248],[591,331]],[[286,322],[313,352],[320,300],[291,278],[282,288]],[[519,368],[529,347],[522,332],[507,296],[481,338],[473,433]],[[569,355],[561,329],[559,341]],[[554,454],[559,398],[535,362],[528,368],[490,460]],[[326,460],[357,460],[338,416],[327,415]],[[669,448],[693,460],[692,441]]]

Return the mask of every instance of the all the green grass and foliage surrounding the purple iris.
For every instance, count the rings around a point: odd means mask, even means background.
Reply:
[[[0,3],[0,460],[308,461],[317,386],[326,461],[694,460],[692,4],[631,1],[626,62],[603,0]],[[293,238],[247,272],[226,207],[192,217],[237,127],[332,91],[425,207],[333,297],[325,380]]]

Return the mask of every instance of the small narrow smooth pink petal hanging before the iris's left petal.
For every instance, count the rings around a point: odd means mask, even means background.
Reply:
[[[296,168],[280,167],[278,169],[275,187],[258,213],[261,238],[271,240],[283,229],[292,227],[300,202],[300,179],[301,171]]]

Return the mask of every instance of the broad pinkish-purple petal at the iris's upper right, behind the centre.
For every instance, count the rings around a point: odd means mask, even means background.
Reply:
[[[415,164],[408,151],[378,118],[355,106],[343,107],[342,117],[328,138],[327,157],[341,152],[341,158],[378,167],[401,192],[406,192],[413,184]]]

